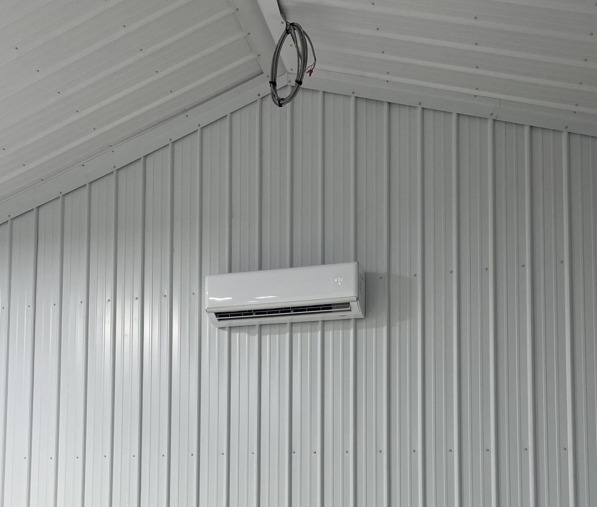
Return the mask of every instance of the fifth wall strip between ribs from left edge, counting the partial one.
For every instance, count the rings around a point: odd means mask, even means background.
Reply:
[[[115,191],[114,173],[90,184],[85,506],[106,505],[110,497]]]

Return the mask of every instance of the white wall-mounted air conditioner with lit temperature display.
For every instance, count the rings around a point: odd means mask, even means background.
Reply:
[[[218,327],[358,319],[365,276],[358,262],[208,274],[205,310]]]

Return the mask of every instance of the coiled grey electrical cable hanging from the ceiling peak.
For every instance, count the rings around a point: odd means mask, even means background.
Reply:
[[[278,62],[280,60],[282,45],[284,45],[284,41],[289,34],[293,39],[294,47],[297,50],[297,77],[294,80],[293,89],[290,90],[290,93],[287,97],[280,97],[278,95],[278,84],[276,81],[269,82],[269,87],[272,91],[273,103],[275,103],[275,105],[277,105],[279,108],[296,97],[298,90],[303,84],[305,72],[309,72],[309,75],[311,75],[313,73],[313,69],[315,69],[315,62],[317,62],[315,50],[313,49],[313,42],[311,42],[309,35],[307,35],[307,33],[303,30],[303,27],[301,27],[298,23],[286,22],[284,33],[282,33],[278,44],[276,44],[276,49],[273,51],[272,68],[270,69],[270,76],[272,76],[272,79],[275,80],[276,76],[278,75]],[[309,47],[307,47],[307,41],[309,41],[311,52],[313,53],[313,63],[309,67],[307,67],[307,59],[309,59]]]

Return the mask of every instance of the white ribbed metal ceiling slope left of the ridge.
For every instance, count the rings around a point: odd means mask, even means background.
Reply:
[[[2,13],[0,201],[261,74],[228,0]]]

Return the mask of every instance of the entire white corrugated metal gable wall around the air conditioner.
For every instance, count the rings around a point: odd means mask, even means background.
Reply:
[[[353,259],[365,319],[202,311]],[[1,505],[595,505],[596,259],[596,138],[263,97],[0,225]]]

